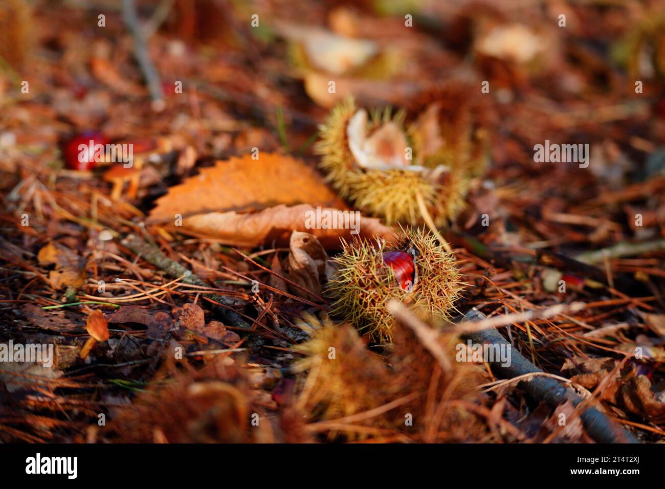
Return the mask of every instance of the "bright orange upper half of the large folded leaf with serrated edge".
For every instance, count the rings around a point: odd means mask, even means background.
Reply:
[[[289,156],[261,152],[258,160],[247,154],[217,162],[170,188],[157,200],[148,222],[174,222],[177,214],[188,218],[206,212],[259,211],[279,204],[346,208],[313,168]]]

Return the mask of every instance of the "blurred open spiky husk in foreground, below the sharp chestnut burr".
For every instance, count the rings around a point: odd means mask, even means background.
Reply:
[[[477,415],[483,402],[479,386],[489,381],[480,365],[452,361],[444,371],[432,351],[400,323],[382,358],[348,323],[313,317],[307,322],[315,332],[297,347],[307,357],[294,367],[296,405],[315,423],[309,426],[329,440],[464,442],[491,436]],[[436,340],[451,360],[460,342],[451,332]]]

